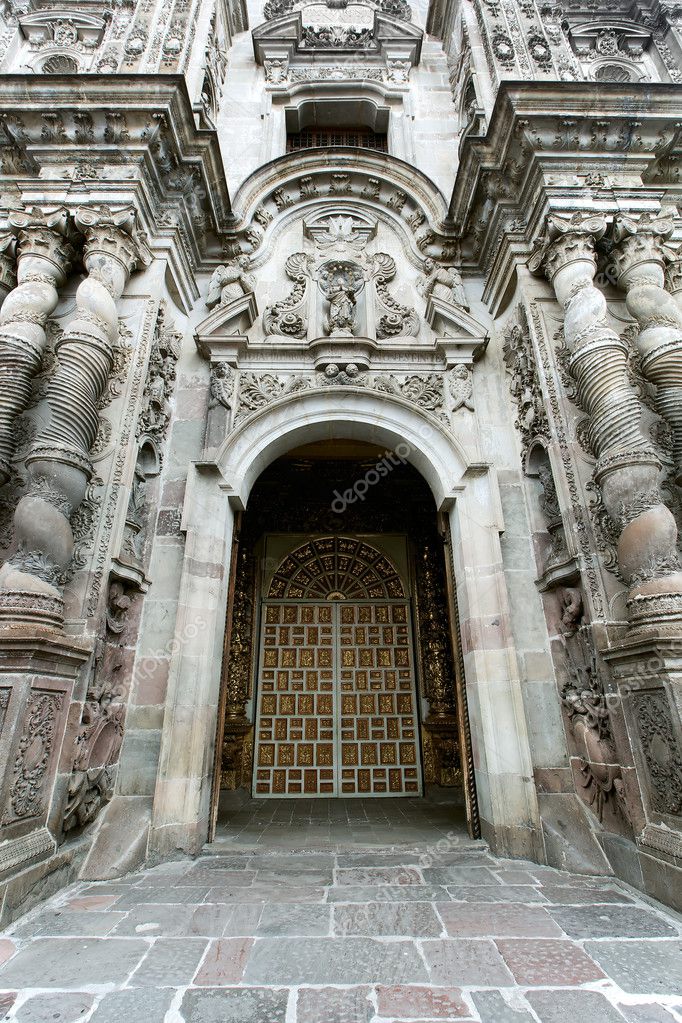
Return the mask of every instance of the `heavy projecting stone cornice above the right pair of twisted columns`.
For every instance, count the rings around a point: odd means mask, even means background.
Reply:
[[[503,83],[488,134],[461,146],[449,207],[464,262],[489,274],[492,305],[547,213],[616,213],[635,191],[641,212],[674,202],[681,138],[676,85]]]

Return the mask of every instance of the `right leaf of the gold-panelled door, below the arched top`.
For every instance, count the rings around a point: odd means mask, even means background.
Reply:
[[[339,604],[342,796],[421,791],[406,604]]]

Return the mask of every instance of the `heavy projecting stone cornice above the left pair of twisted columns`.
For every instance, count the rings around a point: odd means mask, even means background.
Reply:
[[[132,204],[152,249],[178,251],[185,271],[220,253],[230,197],[214,131],[195,126],[175,75],[4,75],[4,190],[74,207],[84,194]]]

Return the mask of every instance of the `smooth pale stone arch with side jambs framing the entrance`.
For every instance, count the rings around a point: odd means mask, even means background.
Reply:
[[[196,852],[209,833],[234,509],[246,506],[255,480],[280,454],[304,441],[348,438],[402,451],[448,517],[483,836],[503,853],[544,858],[494,473],[468,465],[456,438],[428,413],[398,396],[375,398],[338,387],[273,401],[239,424],[214,462],[193,466],[151,824],[155,854]]]

